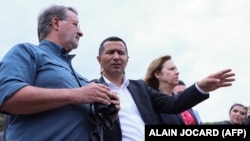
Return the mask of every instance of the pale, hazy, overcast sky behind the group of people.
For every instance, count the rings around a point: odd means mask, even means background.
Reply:
[[[233,86],[211,92],[194,107],[203,121],[228,119],[236,102],[250,105],[250,1],[248,0],[6,0],[1,2],[0,59],[15,44],[38,44],[37,16],[51,4],[79,12],[81,38],[73,65],[88,79],[99,77],[96,56],[109,36],[125,40],[126,74],[141,79],[152,59],[169,54],[187,85],[232,68]]]

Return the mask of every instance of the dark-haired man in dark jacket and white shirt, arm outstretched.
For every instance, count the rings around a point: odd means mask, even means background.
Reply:
[[[121,102],[113,129],[104,131],[105,141],[143,141],[145,125],[159,122],[155,112],[180,113],[207,99],[209,92],[231,86],[235,80],[231,69],[225,69],[198,81],[181,95],[167,96],[148,87],[143,80],[127,79],[128,58],[126,43],[121,38],[108,37],[102,41],[97,56],[102,68],[99,81],[117,92]]]

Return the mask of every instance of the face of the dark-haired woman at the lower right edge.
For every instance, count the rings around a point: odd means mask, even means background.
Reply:
[[[242,124],[246,120],[246,110],[244,107],[236,105],[229,112],[229,118],[232,124]]]

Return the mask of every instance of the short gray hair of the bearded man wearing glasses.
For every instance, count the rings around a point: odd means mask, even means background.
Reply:
[[[52,19],[54,17],[57,17],[59,19],[67,18],[67,10],[74,12],[76,15],[78,14],[73,7],[60,5],[52,5],[40,13],[37,18],[37,33],[39,42],[48,35]]]

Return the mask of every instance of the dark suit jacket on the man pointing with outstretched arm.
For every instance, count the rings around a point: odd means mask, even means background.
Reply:
[[[104,83],[103,77],[101,77],[99,81]],[[154,90],[147,86],[143,80],[129,80],[127,88],[132,94],[146,125],[160,123],[155,112],[177,114],[195,106],[209,97],[209,95],[201,94],[194,85],[187,88],[182,94],[174,96],[167,96],[166,94]],[[121,140],[121,127],[119,119],[117,119],[111,130],[104,130],[104,141]]]

